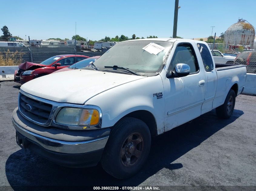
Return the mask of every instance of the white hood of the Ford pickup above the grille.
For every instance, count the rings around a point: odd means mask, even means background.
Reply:
[[[77,69],[35,78],[20,89],[47,100],[83,104],[103,91],[141,78],[146,77]]]

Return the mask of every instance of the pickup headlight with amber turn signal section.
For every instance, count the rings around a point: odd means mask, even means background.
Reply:
[[[55,118],[55,122],[70,126],[98,125],[100,114],[95,109],[64,107]]]

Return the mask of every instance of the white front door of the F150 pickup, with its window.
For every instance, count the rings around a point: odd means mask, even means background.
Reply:
[[[178,43],[168,71],[178,63],[188,64],[190,74],[163,79],[165,97],[165,131],[201,115],[205,96],[205,74],[199,68],[200,53],[195,43]],[[199,60],[201,61],[201,59]]]

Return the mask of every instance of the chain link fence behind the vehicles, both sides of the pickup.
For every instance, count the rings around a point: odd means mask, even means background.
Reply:
[[[30,44],[31,45],[31,44]],[[223,43],[209,43],[210,49],[219,50],[226,56],[236,56],[234,64],[244,64],[247,73],[256,74],[256,50],[246,49],[246,47],[234,46],[225,49]],[[101,56],[109,48],[101,50],[81,48],[77,46],[58,46],[58,47],[0,47],[0,66],[19,65],[22,62],[41,63],[44,60],[57,55],[76,54],[84,56]]]

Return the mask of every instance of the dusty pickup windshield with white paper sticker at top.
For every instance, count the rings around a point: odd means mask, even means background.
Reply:
[[[102,70],[106,70],[105,66],[117,65],[140,75],[153,76],[163,69],[171,45],[170,42],[155,40],[122,42],[109,49],[94,64]]]

